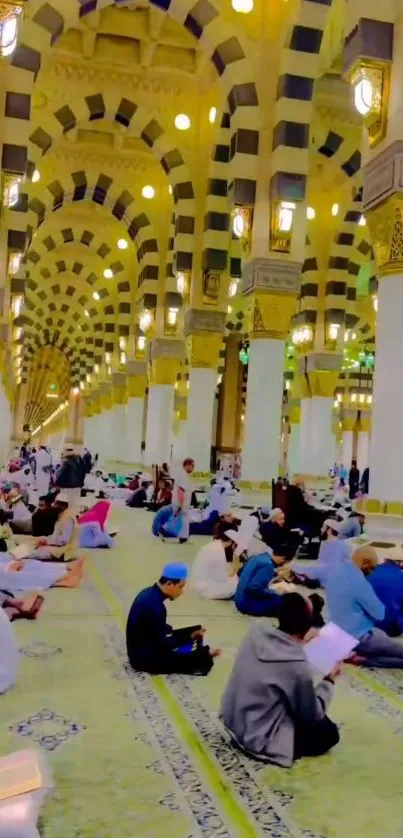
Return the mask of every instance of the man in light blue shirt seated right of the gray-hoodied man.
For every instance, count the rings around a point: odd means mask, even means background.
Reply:
[[[366,578],[377,558],[367,546],[354,551],[352,561],[340,562],[326,581],[330,620],[357,638],[356,662],[363,666],[403,669],[403,644],[392,640],[377,625],[385,619],[385,606]]]

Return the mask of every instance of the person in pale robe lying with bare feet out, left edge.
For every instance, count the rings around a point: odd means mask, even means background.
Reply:
[[[0,553],[0,590],[14,596],[20,591],[48,588],[78,588],[86,559],[82,557],[63,565],[60,562],[16,560],[11,553]]]

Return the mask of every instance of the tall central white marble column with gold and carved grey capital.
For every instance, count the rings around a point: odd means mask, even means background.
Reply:
[[[250,351],[242,478],[270,481],[279,473],[285,338],[299,292],[300,265],[252,259],[243,290],[250,310]]]

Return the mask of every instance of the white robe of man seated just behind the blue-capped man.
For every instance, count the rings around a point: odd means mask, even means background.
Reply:
[[[221,541],[211,541],[199,550],[192,566],[190,584],[206,599],[231,599],[238,578],[228,576],[228,562]]]

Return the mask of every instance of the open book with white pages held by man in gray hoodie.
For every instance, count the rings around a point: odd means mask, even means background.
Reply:
[[[347,634],[336,623],[326,623],[318,636],[306,643],[304,652],[312,668],[324,676],[344,660],[358,642],[356,637]]]

